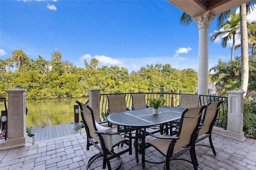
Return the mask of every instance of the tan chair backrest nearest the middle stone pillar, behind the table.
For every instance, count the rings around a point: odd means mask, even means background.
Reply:
[[[125,95],[108,95],[108,110],[111,113],[126,111]]]

